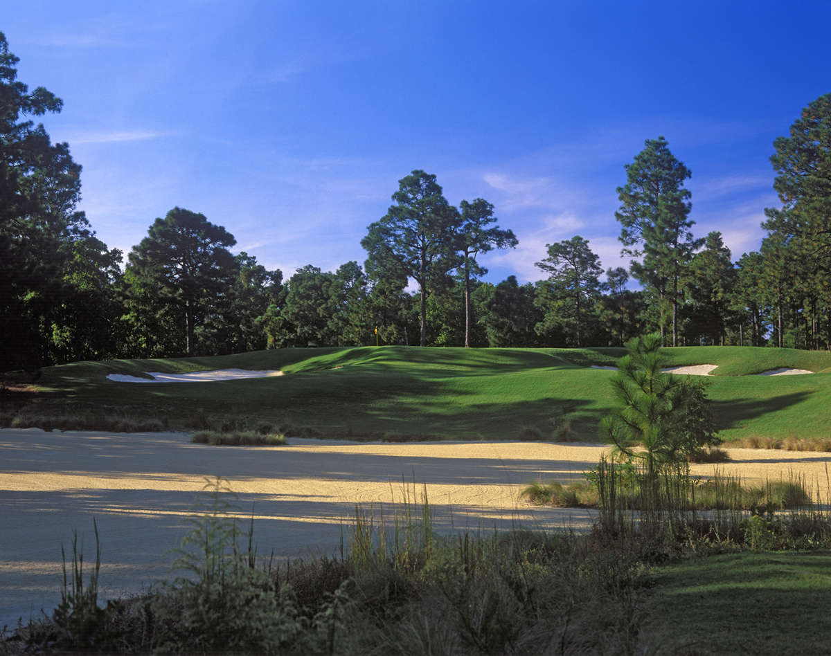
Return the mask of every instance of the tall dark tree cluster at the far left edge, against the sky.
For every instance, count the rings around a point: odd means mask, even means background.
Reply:
[[[69,146],[31,120],[62,101],[17,81],[18,61],[0,32],[0,369],[116,355],[120,252],[76,210],[81,166]]]

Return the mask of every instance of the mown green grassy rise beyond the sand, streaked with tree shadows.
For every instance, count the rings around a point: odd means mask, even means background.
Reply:
[[[750,347],[667,350],[673,365],[720,365],[706,379],[723,437],[829,437],[831,375],[742,376],[779,366],[831,372],[831,355]],[[80,362],[43,370],[47,404],[130,409],[180,423],[193,414],[236,414],[327,430],[516,438],[549,433],[563,418],[586,438],[612,408],[618,349],[283,349],[211,358]],[[196,384],[118,384],[117,372],[238,367],[287,375]],[[337,368],[337,369],[336,369]],[[725,375],[729,373],[730,375]]]

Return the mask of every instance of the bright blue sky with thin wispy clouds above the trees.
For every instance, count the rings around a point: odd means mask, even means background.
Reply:
[[[831,2],[38,2],[4,12],[19,79],[125,252],[179,205],[286,277],[363,262],[411,169],[486,198],[543,277],[545,245],[622,263],[615,189],[644,140],[692,171],[698,236],[758,249],[772,142],[831,91]]]

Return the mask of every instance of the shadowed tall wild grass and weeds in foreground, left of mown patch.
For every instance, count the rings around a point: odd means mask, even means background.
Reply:
[[[217,480],[175,551],[179,574],[138,599],[94,600],[92,642],[20,629],[28,651],[108,653],[631,653],[643,569],[587,536],[514,530],[437,536],[423,489],[391,512],[357,507],[340,557],[273,566]],[[79,569],[80,573],[80,569]],[[87,587],[85,590],[90,590]],[[57,615],[56,615],[57,617]],[[80,634],[79,634],[80,635]],[[86,635],[86,634],[85,634]],[[52,641],[51,641],[52,640]]]

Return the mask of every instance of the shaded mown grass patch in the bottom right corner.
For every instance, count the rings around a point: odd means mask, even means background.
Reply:
[[[655,570],[647,644],[666,654],[824,654],[829,551],[692,558]]]

